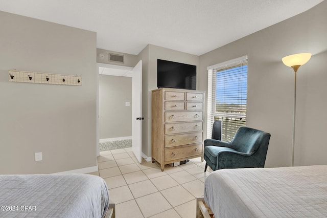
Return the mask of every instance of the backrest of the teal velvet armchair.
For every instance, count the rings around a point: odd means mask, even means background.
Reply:
[[[230,141],[230,144],[231,148],[252,155],[261,146],[264,146],[267,152],[269,139],[269,133],[242,126],[238,129],[235,137]]]

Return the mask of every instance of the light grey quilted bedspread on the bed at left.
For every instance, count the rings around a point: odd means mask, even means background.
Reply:
[[[109,195],[94,175],[0,175],[0,206],[0,217],[105,217]]]

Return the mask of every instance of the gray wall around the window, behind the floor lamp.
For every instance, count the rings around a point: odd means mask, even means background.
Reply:
[[[247,126],[271,134],[266,167],[290,166],[294,71],[282,57],[313,56],[297,74],[295,165],[327,164],[327,1],[311,10],[200,56],[199,89],[207,90],[206,68],[248,55]]]

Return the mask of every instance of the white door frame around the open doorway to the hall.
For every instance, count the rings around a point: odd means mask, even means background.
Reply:
[[[99,67],[103,68],[111,68],[111,69],[120,69],[120,70],[128,70],[131,71],[133,70],[132,67],[127,67],[127,66],[120,66],[120,65],[114,65],[114,64],[108,64],[108,63],[96,63],[97,66],[97,122],[96,122],[96,133],[97,133],[97,157],[100,156],[100,126],[99,126],[99,117],[100,117],[100,102],[99,102]],[[142,89],[142,87],[141,87]],[[133,99],[132,99],[133,101]]]

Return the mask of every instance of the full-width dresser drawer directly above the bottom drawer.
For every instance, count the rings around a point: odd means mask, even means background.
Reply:
[[[166,135],[165,147],[187,145],[202,142],[202,132]]]

